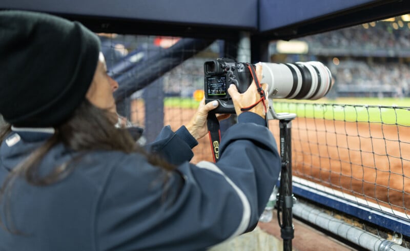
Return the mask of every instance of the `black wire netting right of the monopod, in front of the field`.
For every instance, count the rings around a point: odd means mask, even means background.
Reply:
[[[410,108],[275,102],[275,109],[298,115],[292,126],[294,176],[409,219]]]

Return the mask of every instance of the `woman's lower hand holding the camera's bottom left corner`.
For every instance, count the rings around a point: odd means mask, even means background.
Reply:
[[[198,110],[187,124],[186,128],[195,139],[200,139],[208,133],[207,117],[208,113],[218,107],[219,102],[214,100],[205,104],[205,99],[199,103]],[[221,114],[217,116],[218,120],[226,119],[230,114]]]

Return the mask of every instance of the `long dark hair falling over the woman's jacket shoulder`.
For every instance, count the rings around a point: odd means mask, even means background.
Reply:
[[[125,129],[118,129],[114,127],[116,121],[116,114],[107,110],[99,109],[91,104],[87,99],[80,104],[75,110],[73,116],[55,128],[55,133],[38,149],[34,150],[30,156],[19,163],[5,179],[0,190],[0,202],[7,194],[10,193],[12,184],[17,177],[24,178],[29,184],[36,186],[45,186],[58,182],[67,177],[75,168],[76,160],[87,152],[93,150],[113,150],[122,151],[125,153],[137,152],[147,157],[149,163],[158,166],[165,172],[164,184],[166,183],[169,171],[174,170],[175,167],[168,162],[162,160],[154,154],[147,154],[147,152],[135,143],[133,137]],[[6,125],[2,132],[0,132],[0,142],[11,132],[10,125]],[[55,166],[47,175],[39,174],[39,161],[52,149],[56,144],[63,143],[66,147],[76,153],[79,153],[75,159],[70,163],[64,163]],[[9,199],[9,197],[7,197]],[[7,213],[6,219],[10,219],[10,212]],[[3,224],[0,217],[0,224]],[[8,231],[10,229],[6,227]],[[18,233],[16,231],[11,231]]]

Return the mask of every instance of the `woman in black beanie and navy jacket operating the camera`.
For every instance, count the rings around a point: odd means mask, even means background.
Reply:
[[[280,170],[264,104],[240,111],[260,98],[254,84],[229,88],[238,123],[218,163],[193,165],[217,103],[146,152],[114,126],[118,84],[92,32],[0,11],[0,38],[0,250],[203,250],[253,229]]]

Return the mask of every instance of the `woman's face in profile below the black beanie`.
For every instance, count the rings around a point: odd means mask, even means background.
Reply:
[[[118,89],[118,83],[107,73],[107,65],[103,53],[99,53],[97,69],[86,98],[94,106],[116,113],[113,93]]]

